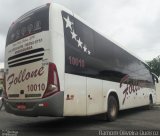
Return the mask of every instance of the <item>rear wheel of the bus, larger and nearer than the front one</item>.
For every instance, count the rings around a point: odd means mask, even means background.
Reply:
[[[118,115],[118,103],[114,96],[109,96],[108,99],[108,111],[107,111],[107,120],[114,121]]]

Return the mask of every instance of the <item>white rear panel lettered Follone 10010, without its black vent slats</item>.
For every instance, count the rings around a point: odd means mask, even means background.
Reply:
[[[33,45],[27,45],[29,42],[34,42],[41,39],[41,42]],[[21,65],[18,68],[8,66],[8,58],[16,55],[17,51],[27,47],[31,49],[44,48],[43,60],[38,62]],[[42,98],[48,80],[48,58],[49,58],[49,32],[44,31],[37,33],[19,41],[16,41],[6,47],[5,51],[5,76],[6,76],[6,92],[9,99],[35,99]],[[30,54],[33,55],[33,54]],[[35,55],[35,54],[34,54]],[[28,56],[25,56],[28,57]],[[18,59],[23,58],[19,57]],[[32,58],[31,58],[32,59]],[[31,60],[28,59],[28,60]],[[35,76],[36,75],[36,76]],[[24,90],[24,94],[20,91]],[[10,97],[9,95],[19,95],[19,97]],[[25,95],[38,94],[38,97],[25,97]]]

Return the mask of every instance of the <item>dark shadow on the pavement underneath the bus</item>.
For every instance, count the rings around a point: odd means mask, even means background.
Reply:
[[[154,110],[154,109],[152,109]],[[118,119],[123,119],[129,116],[136,116],[136,114],[146,112],[146,108],[134,108],[129,110],[124,110],[119,112]],[[29,117],[30,118],[30,117]],[[42,120],[41,120],[42,118]],[[115,121],[116,122],[116,121]],[[84,129],[89,128],[90,125],[103,125],[104,123],[110,123],[104,121],[99,116],[91,116],[91,117],[62,117],[62,118],[54,118],[54,117],[38,117],[33,118],[33,121],[24,122],[18,125],[18,128],[23,129],[40,129],[43,130],[68,130],[68,129]]]

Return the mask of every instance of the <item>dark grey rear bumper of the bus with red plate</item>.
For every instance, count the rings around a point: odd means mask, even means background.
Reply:
[[[60,91],[52,96],[35,100],[4,99],[5,110],[19,116],[63,116],[64,92]],[[17,108],[24,105],[24,109]]]

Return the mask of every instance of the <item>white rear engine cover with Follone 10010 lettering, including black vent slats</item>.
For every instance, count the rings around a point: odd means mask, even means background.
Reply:
[[[7,46],[7,63],[5,67],[9,68],[5,73],[5,77],[6,93],[9,99],[43,97],[48,79],[49,47],[44,46],[48,45],[48,35],[48,32],[41,32]],[[29,52],[28,54],[20,56],[25,53],[24,50],[28,49],[29,51],[26,51]],[[29,59],[25,61],[26,58]],[[34,62],[36,59],[41,59],[42,61]],[[33,61],[32,65],[27,64],[27,61]],[[35,80],[36,78],[38,78],[38,82]]]

